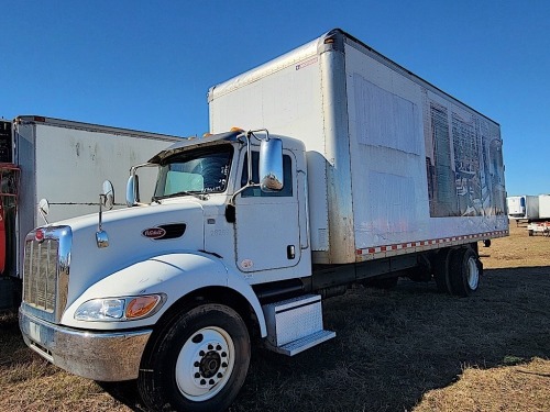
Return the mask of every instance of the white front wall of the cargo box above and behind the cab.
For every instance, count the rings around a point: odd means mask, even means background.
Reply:
[[[268,70],[246,81],[232,79],[229,91],[211,92],[210,132],[232,126],[244,130],[267,129],[271,134],[295,137],[307,147],[310,237],[312,250],[328,249],[328,200],[324,157],[321,67],[317,54],[305,55],[292,64]],[[234,85],[241,85],[239,87]],[[215,88],[216,91],[216,88]]]

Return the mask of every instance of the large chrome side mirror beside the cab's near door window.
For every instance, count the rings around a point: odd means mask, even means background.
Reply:
[[[264,192],[283,190],[283,142],[270,137],[260,143],[260,188]]]

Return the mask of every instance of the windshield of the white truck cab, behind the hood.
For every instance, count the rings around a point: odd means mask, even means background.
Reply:
[[[160,166],[153,199],[226,191],[233,147],[213,146],[178,153]]]

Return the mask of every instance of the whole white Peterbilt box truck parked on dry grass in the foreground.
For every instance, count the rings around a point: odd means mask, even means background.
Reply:
[[[215,134],[150,159],[151,204],[134,168],[128,210],[28,235],[20,326],[55,365],[226,410],[251,336],[290,356],[333,337],[321,300],[353,282],[468,296],[477,241],[508,234],[498,124],[340,30],[209,104]]]

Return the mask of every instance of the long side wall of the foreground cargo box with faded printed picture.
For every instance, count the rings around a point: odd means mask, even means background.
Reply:
[[[506,231],[496,123],[346,44],[358,249]]]

